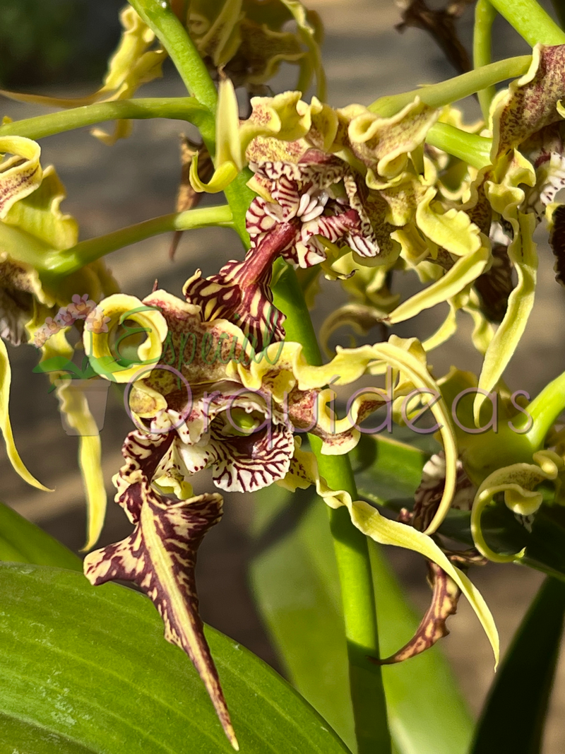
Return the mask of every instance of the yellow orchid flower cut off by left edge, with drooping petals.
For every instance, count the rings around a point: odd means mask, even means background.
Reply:
[[[69,359],[73,349],[64,337],[70,324],[66,305],[71,303],[76,290],[87,290],[88,301],[99,299],[115,290],[115,281],[102,262],[93,262],[64,279],[44,279],[43,272],[50,260],[76,244],[78,226],[71,216],[61,212],[65,189],[53,167],[41,169],[40,149],[35,142],[12,136],[0,139],[0,149],[14,154],[0,170],[3,197],[0,202],[0,335],[13,345],[35,342],[41,348],[42,360],[56,356]],[[62,314],[62,309],[66,314]],[[26,482],[47,489],[29,474],[14,446],[8,414],[11,370],[4,342],[0,350],[0,425],[8,458]],[[59,385],[56,390],[69,424],[78,428],[81,435],[78,455],[87,493],[87,544],[91,547],[98,538],[105,511],[102,472],[96,463],[100,455],[98,431],[84,397],[71,400],[69,385]]]

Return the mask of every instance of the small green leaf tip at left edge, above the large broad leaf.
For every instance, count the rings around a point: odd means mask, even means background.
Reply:
[[[82,572],[79,557],[4,503],[0,503],[0,560]]]

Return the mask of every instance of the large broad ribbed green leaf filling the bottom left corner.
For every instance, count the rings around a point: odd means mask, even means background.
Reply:
[[[151,602],[115,584],[0,565],[0,751],[231,752],[196,671]],[[243,752],[347,754],[258,657],[208,629]]]

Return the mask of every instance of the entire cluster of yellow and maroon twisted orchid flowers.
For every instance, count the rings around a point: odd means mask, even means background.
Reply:
[[[124,465],[114,484],[115,501],[134,530],[124,541],[90,552],[84,572],[92,584],[123,579],[148,594],[166,639],[191,657],[237,748],[198,613],[197,548],[222,509],[219,492],[194,496],[192,477],[203,470],[226,492],[255,492],[273,483],[292,491],[315,486],[329,507],[347,509],[363,535],[426,558],[432,605],[414,638],[380,662],[404,660],[444,636],[461,592],[498,659],[493,618],[466,569],[484,558],[516,561],[524,550],[493,550],[481,517],[503,498],[528,526],[544,501],[540,484],[552,483],[560,503],[565,478],[563,432],[555,425],[565,405],[563,378],[531,403],[517,402],[502,382],[533,308],[533,231],[544,218],[557,280],[565,284],[565,210],[557,201],[565,186],[565,44],[536,44],[530,58],[516,59],[512,75],[518,78],[487,103],[484,121],[469,125],[453,106],[469,93],[467,84],[457,88],[459,79],[443,99],[429,86],[368,107],[332,108],[324,102],[319,19],[294,0],[192,2],[188,11],[181,2],[160,10],[149,5],[136,0],[122,12],[120,46],[91,97],[5,94],[68,108],[69,127],[82,124],[73,108],[86,106],[86,112],[95,103],[121,102],[115,132],[93,131],[114,143],[130,133],[136,115],[128,103],[136,89],[160,75],[167,55],[180,65],[176,43],[163,32],[165,20],[176,24],[193,53],[194,71],[200,78],[212,72],[218,82],[218,102],[216,107],[208,79],[207,88],[193,85],[193,97],[183,105],[179,117],[194,120],[203,145],[189,155],[185,198],[187,192],[191,198],[184,207],[191,209],[177,216],[185,225],[166,229],[231,225],[244,241],[243,259],[209,277],[195,271],[184,299],[157,287],[143,300],[119,293],[100,261],[119,245],[119,231],[97,245],[78,243],[75,221],[60,210],[65,193],[55,170],[42,170],[29,129],[23,128],[23,136],[18,122],[6,123],[0,149],[14,156],[0,168],[1,333],[13,345],[35,345],[42,362],[72,359],[84,348],[93,379],[127,386],[135,428],[124,442]],[[282,29],[289,20],[295,31]],[[269,96],[266,82],[281,62],[299,66],[298,88]],[[190,79],[190,67],[179,70]],[[318,97],[308,103],[302,91],[313,75]],[[484,94],[499,81],[496,72],[489,75],[478,78],[473,91]],[[244,119],[236,87],[255,95]],[[49,117],[44,130],[38,124],[41,133],[53,132]],[[205,171],[210,156],[213,170]],[[195,208],[200,193],[221,191],[227,211]],[[400,300],[394,280],[411,271],[422,287]],[[307,316],[305,300],[314,302],[321,273],[350,296],[322,327],[326,350],[329,336],[344,324],[365,336],[377,326],[383,335],[370,345],[337,346],[324,364],[297,323]],[[294,302],[286,295],[289,279],[298,291]],[[396,323],[445,303],[447,317],[424,342],[388,336]],[[481,373],[452,369],[435,377],[429,353],[454,335],[460,312],[472,317]],[[119,348],[128,322],[136,324],[130,333],[145,338],[133,357]],[[81,335],[76,345],[67,337],[72,328]],[[298,333],[297,339],[289,333]],[[14,446],[4,344],[0,354],[0,425],[8,456],[23,479],[42,487]],[[336,389],[364,375],[386,375],[386,391],[357,391],[347,415],[338,418]],[[56,389],[69,421],[82,428],[90,550],[105,515],[99,438],[90,433],[90,411],[74,386],[67,381]],[[466,402],[460,401],[462,391],[471,396]],[[463,418],[460,412],[454,421],[456,403]],[[414,506],[397,520],[320,471],[324,457],[354,449],[367,433],[363,422],[388,404],[399,425],[429,409],[442,446],[423,469]],[[438,533],[454,506],[472,511],[474,547],[464,553],[447,550]]]

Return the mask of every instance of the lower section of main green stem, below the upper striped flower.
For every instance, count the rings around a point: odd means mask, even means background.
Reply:
[[[300,342],[311,364],[322,363],[316,334],[304,302],[295,271],[277,263],[279,273],[273,285],[275,305],[286,314],[286,338]],[[357,490],[347,455],[322,455],[322,443],[310,435],[319,473],[332,489],[344,489],[353,498]],[[380,667],[368,661],[378,657],[377,612],[368,541],[351,523],[346,508],[329,509],[331,534],[341,584],[341,599],[347,636],[350,692],[356,726],[358,754],[389,754],[390,734]]]

